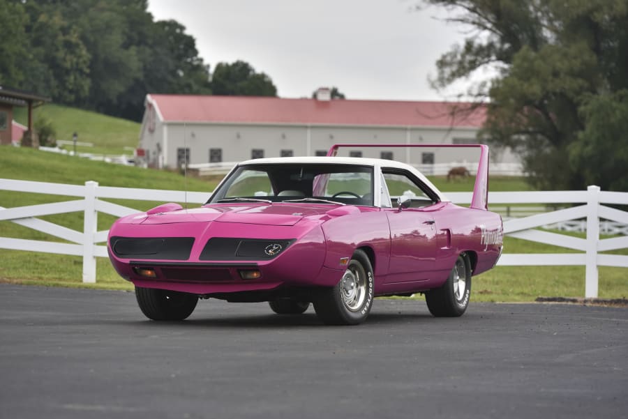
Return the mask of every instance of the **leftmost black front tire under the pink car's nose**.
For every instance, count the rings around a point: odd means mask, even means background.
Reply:
[[[185,292],[135,287],[137,305],[151,320],[184,320],[194,311],[198,296]]]

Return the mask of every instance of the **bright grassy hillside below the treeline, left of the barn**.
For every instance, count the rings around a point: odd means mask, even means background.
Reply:
[[[77,141],[94,144],[93,147],[77,146],[79,153],[128,155],[133,152],[125,147],[135,148],[140,140],[140,123],[96,112],[49,103],[33,109],[33,120],[41,117],[52,122],[56,139],[71,141],[76,132]],[[14,119],[27,125],[26,108],[15,107]],[[71,150],[72,146],[64,148]]]

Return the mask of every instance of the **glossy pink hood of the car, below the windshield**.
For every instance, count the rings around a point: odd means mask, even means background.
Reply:
[[[303,204],[215,204],[193,209],[177,209],[158,213],[135,215],[128,222],[133,224],[173,224],[178,222],[237,222],[291,226],[302,218],[320,218],[328,211],[338,208],[329,205]]]

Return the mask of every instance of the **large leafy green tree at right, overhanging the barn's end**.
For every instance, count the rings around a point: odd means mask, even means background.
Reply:
[[[426,0],[472,28],[463,46],[437,62],[442,89],[492,66],[489,83],[466,92],[487,105],[480,135],[523,157],[530,182],[544,189],[618,188],[606,159],[626,167],[621,121],[628,119],[628,2],[625,0]],[[613,112],[613,135],[600,121]],[[615,144],[615,145],[613,145]],[[606,148],[605,148],[606,147]],[[590,160],[592,156],[598,160]]]

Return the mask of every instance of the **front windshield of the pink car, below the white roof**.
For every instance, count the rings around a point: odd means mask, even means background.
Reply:
[[[220,185],[208,204],[241,198],[373,206],[373,167],[358,165],[246,165]]]

